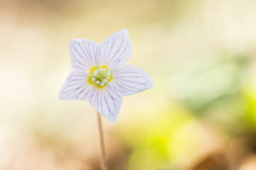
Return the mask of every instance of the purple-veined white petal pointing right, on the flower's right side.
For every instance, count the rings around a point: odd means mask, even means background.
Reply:
[[[113,81],[109,83],[122,96],[136,94],[152,87],[149,75],[133,65],[125,65],[113,71]]]

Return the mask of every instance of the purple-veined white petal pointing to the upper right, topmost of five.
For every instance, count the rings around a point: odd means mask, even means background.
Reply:
[[[111,69],[123,65],[131,57],[131,42],[128,31],[113,33],[98,48],[99,65],[108,65]]]

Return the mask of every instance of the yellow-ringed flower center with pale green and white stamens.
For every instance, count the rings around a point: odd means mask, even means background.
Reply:
[[[112,80],[112,74],[106,65],[95,66],[90,69],[88,82],[96,88],[104,88]]]

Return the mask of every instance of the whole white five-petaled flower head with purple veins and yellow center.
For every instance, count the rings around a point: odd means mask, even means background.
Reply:
[[[131,57],[131,42],[125,29],[100,44],[75,38],[69,43],[69,52],[73,71],[59,98],[88,100],[110,122],[119,115],[123,96],[152,87],[152,79],[146,72],[124,65]]]

